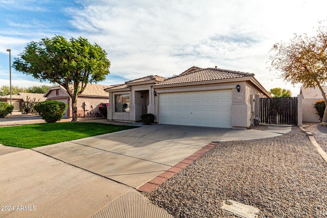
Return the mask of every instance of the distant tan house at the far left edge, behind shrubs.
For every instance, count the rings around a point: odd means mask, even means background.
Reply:
[[[29,101],[34,101],[35,99],[35,102],[44,102],[46,98],[44,98],[43,95],[44,94],[26,92],[18,92],[18,94],[12,94],[11,104],[14,106],[13,111],[21,111],[22,103],[26,102],[28,99]],[[10,95],[0,96],[0,101],[10,104]]]

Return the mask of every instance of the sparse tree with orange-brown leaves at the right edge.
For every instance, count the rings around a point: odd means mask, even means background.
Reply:
[[[269,57],[270,70],[281,71],[282,78],[293,85],[302,83],[305,88],[318,87],[327,105],[322,89],[327,82],[327,26],[319,26],[317,34],[311,37],[295,34],[288,43],[274,44],[270,52],[274,52]],[[327,122],[327,107],[322,122]]]

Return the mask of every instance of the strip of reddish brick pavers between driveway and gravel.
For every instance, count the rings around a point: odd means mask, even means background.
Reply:
[[[205,154],[208,151],[210,151],[211,149],[213,149],[215,146],[217,146],[217,144],[218,144],[217,142],[211,142],[211,143],[207,144],[205,147],[203,147],[199,151],[195,152],[191,156],[186,157],[184,160],[180,161],[176,165],[170,167],[169,169],[167,169],[167,171],[161,173],[159,176],[153,178],[152,180],[145,183],[144,185],[136,188],[136,190],[143,191],[143,192],[153,191],[154,189],[159,187],[162,183],[164,183],[168,179],[172,178],[176,173],[181,171],[183,168],[185,168],[186,166],[193,163],[193,161],[198,159],[200,156],[202,156],[203,154]]]

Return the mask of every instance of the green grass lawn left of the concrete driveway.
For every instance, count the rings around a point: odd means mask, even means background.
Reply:
[[[50,123],[0,128],[4,146],[32,149],[48,144],[135,128],[101,123]]]

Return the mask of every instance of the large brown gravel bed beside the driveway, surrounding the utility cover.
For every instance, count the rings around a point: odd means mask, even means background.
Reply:
[[[259,217],[327,217],[327,164],[298,127],[284,136],[218,142],[151,193],[174,217],[235,217],[235,200]]]

